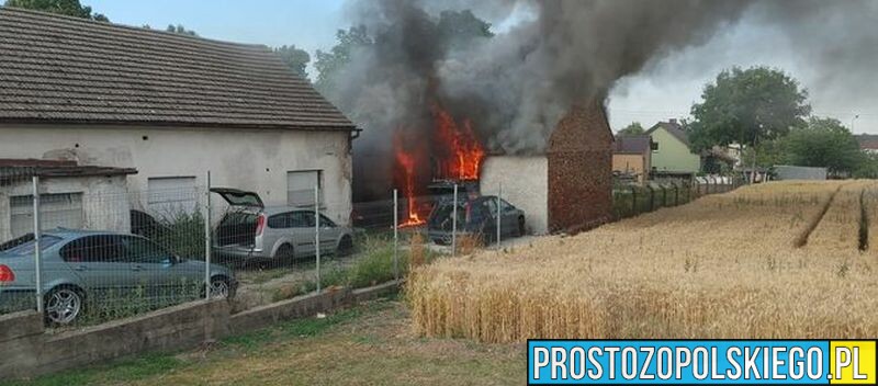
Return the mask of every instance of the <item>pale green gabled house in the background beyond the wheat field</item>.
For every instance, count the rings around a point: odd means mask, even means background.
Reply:
[[[646,130],[655,143],[652,169],[668,173],[697,173],[701,157],[689,148],[689,139],[677,120],[660,122]]]

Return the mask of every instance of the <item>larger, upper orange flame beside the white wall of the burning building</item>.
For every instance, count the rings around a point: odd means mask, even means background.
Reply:
[[[473,134],[472,123],[463,120],[458,125],[454,118],[439,105],[434,105],[436,136],[442,150],[438,164],[438,177],[450,180],[477,180],[485,149]]]

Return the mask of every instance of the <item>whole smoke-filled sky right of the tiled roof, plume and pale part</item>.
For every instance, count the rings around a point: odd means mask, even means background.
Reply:
[[[374,170],[393,168],[385,156],[394,133],[413,148],[431,140],[437,104],[472,120],[491,151],[540,154],[563,114],[593,99],[608,103],[618,121],[619,102],[666,110],[666,100],[688,94],[691,101],[664,117],[685,115],[698,93],[693,82],[759,64],[747,47],[717,44],[742,25],[765,34],[751,36],[764,57],[795,57],[792,75],[808,80],[812,100],[857,86],[873,92],[875,9],[865,0],[351,1],[351,25],[367,27],[375,43],[351,54],[327,96],[363,128],[354,156],[373,155]],[[446,10],[471,10],[495,25],[495,36],[447,42],[438,26]],[[654,103],[638,94],[644,84]]]

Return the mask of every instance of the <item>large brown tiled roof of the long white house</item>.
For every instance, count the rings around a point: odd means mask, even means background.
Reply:
[[[342,129],[268,47],[0,7],[0,122]]]

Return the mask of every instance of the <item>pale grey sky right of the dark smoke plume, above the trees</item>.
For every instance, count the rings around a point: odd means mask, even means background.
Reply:
[[[732,66],[784,70],[808,89],[813,114],[878,133],[878,2],[762,1],[702,45],[652,58],[610,92],[614,128],[688,115],[706,82]]]

